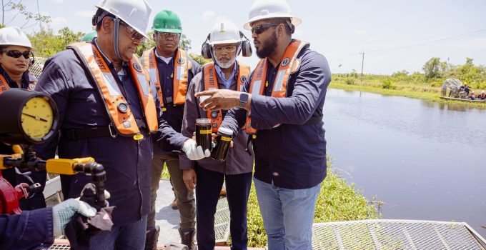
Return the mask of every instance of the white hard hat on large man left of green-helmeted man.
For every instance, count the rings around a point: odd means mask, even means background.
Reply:
[[[152,8],[146,0],[103,0],[95,6],[122,19],[137,32],[150,39],[146,30]]]

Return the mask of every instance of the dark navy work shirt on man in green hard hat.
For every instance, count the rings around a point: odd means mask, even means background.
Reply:
[[[155,48],[153,50],[155,50]],[[160,86],[162,88],[162,96],[164,96],[164,99],[166,99],[167,96],[174,99],[174,59],[176,53],[177,51],[174,52],[174,56],[172,56],[169,63],[166,63],[158,56],[155,56],[157,61],[157,69],[159,70],[159,79],[161,81]],[[192,69],[189,69],[187,72],[187,86],[189,87],[189,83],[192,81],[192,78],[201,71],[201,66],[199,66],[197,61],[190,58],[189,55],[187,56],[187,59],[192,63]],[[143,61],[143,56],[140,58],[140,61],[142,64],[145,63]],[[153,79],[151,79],[151,82],[154,82]],[[172,102],[167,103],[164,100],[164,108],[166,108],[166,110],[162,112],[162,119],[167,121],[167,123],[172,126],[172,129],[180,132],[182,128],[182,117],[184,116],[184,104],[174,105]],[[169,152],[160,149],[158,146],[154,147],[154,154],[167,153]]]

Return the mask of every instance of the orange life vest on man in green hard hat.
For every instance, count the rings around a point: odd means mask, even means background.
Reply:
[[[159,69],[157,68],[154,49],[144,51],[143,59],[144,67],[149,72],[150,80],[154,82],[155,88],[157,89],[160,106],[163,107],[164,96],[162,94],[162,86],[160,86]],[[187,59],[186,51],[177,49],[176,58],[174,59],[174,74],[172,74],[172,78],[174,79],[172,103],[175,105],[182,105],[186,102],[187,81],[190,69],[192,69],[192,63]]]

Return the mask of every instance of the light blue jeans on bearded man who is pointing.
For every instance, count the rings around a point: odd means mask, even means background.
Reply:
[[[282,189],[253,178],[269,250],[312,249],[312,221],[321,184]]]

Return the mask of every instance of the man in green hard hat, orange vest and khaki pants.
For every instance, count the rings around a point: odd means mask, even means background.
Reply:
[[[163,10],[154,17],[152,25],[156,46],[144,51],[142,65],[150,75],[151,84],[157,89],[162,108],[162,117],[172,128],[180,132],[187,86],[192,78],[201,71],[196,61],[186,51],[179,49],[182,24],[179,16],[173,11]],[[177,197],[177,208],[181,217],[179,234],[182,244],[194,247],[195,200],[194,191],[188,190],[182,180],[179,169],[179,156],[170,151],[163,151],[154,144],[154,159],[151,166],[151,209],[147,219],[147,240],[145,249],[156,249],[159,227],[155,226],[155,200],[159,189],[160,176],[164,163],[169,169],[174,193]]]

